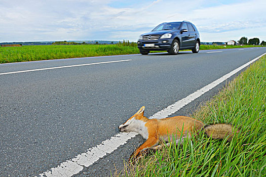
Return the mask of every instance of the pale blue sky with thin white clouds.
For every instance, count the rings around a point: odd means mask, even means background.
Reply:
[[[0,0],[0,42],[130,40],[187,20],[201,41],[266,41],[265,0]]]

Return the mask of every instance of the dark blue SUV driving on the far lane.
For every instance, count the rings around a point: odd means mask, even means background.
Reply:
[[[138,49],[142,55],[149,51],[167,51],[176,55],[179,50],[200,50],[200,33],[196,26],[188,21],[162,23],[152,31],[141,34]]]

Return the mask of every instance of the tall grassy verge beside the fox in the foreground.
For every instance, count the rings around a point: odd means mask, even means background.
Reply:
[[[200,106],[193,117],[232,123],[240,134],[228,143],[200,134],[145,156],[119,176],[265,176],[266,56]]]

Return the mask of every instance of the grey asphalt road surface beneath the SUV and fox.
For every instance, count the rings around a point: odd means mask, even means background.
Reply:
[[[35,176],[56,167],[118,134],[118,125],[141,106],[149,117],[265,52],[246,48],[0,64],[0,74],[7,73],[0,75],[0,176]],[[8,74],[118,60],[129,61]],[[191,113],[224,84],[173,115]],[[121,170],[123,159],[143,141],[129,140],[75,176]]]

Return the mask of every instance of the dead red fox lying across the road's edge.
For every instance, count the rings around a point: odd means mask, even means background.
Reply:
[[[204,129],[208,137],[213,139],[224,139],[228,137],[231,141],[234,131],[230,124],[213,124],[205,125],[202,121],[186,116],[168,117],[163,119],[148,119],[144,116],[145,107],[130,117],[125,123],[119,125],[121,131],[135,131],[140,134],[146,141],[140,145],[131,157],[138,157],[139,153],[145,149],[158,149],[159,141],[172,141],[173,137],[176,142],[182,141],[183,138],[191,138],[193,130]],[[181,137],[182,131],[182,137]],[[236,132],[239,132],[237,130]],[[166,145],[170,145],[167,143]]]

